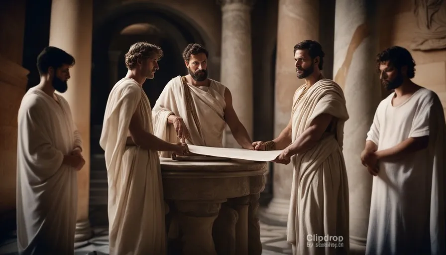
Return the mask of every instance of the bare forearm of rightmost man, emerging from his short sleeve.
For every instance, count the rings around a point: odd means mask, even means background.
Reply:
[[[410,153],[425,149],[428,143],[429,136],[409,137],[391,148],[377,151],[376,157],[378,160],[400,159]]]

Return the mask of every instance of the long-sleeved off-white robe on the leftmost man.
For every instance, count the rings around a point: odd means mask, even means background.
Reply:
[[[73,254],[77,171],[62,164],[82,140],[67,101],[31,88],[18,110],[17,246],[22,254]]]

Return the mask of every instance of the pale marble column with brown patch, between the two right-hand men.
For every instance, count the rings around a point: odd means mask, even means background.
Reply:
[[[361,164],[360,154],[381,96],[375,72],[376,8],[374,3],[368,2],[373,1],[336,0],[334,21],[334,80],[344,91],[350,116],[344,127],[343,154],[349,186],[350,250],[353,254],[365,253],[372,176]]]

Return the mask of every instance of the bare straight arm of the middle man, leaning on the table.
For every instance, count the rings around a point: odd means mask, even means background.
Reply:
[[[226,121],[227,126],[231,129],[232,135],[235,140],[242,146],[243,148],[253,148],[252,140],[249,137],[248,131],[240,122],[235,113],[235,110],[232,106],[232,95],[230,91],[226,88],[224,91],[224,101],[226,102],[226,107],[224,109],[224,120]]]

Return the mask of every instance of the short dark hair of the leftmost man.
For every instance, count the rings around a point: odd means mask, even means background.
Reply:
[[[62,49],[57,47],[48,46],[40,52],[37,56],[37,70],[39,70],[40,75],[48,74],[48,68],[57,68],[62,65],[74,66],[76,63],[74,57]]]

